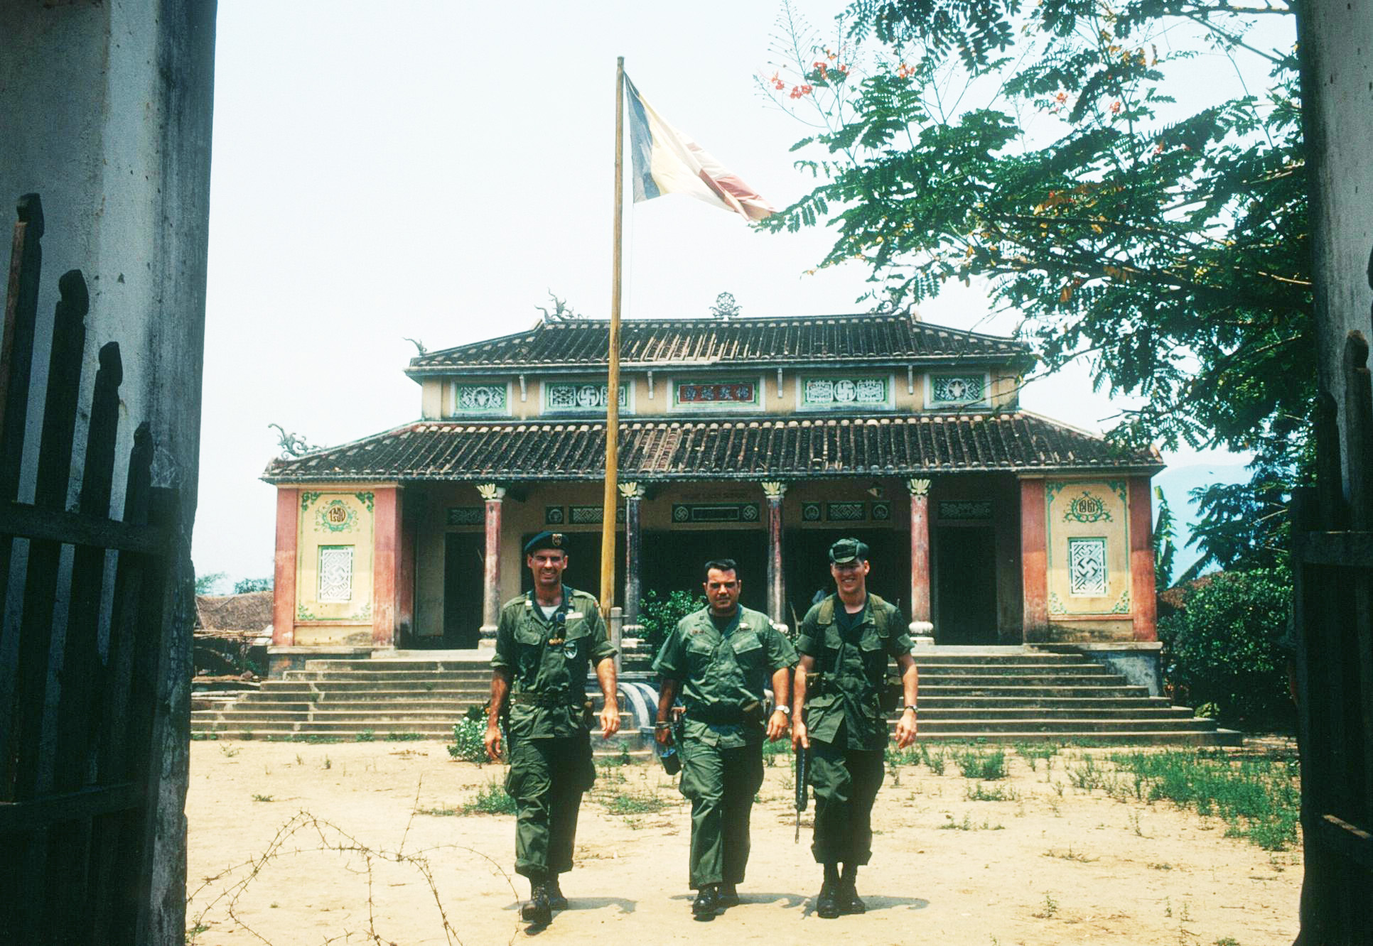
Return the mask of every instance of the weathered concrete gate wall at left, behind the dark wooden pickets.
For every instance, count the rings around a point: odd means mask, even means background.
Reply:
[[[200,372],[214,80],[214,0],[180,3],[0,4],[0,207],[38,192],[47,218],[38,295],[34,390],[47,376],[58,276],[81,269],[91,291],[82,409],[96,353],[119,342],[122,487],[135,427],[157,443],[154,482],[181,494],[174,633],[165,654],[172,732],[161,733],[151,928],[147,943],[181,943],[185,888],[187,744],[189,730]],[[0,239],[8,272],[10,240]],[[21,500],[33,496],[43,398],[30,398]],[[80,482],[84,435],[76,445]]]

